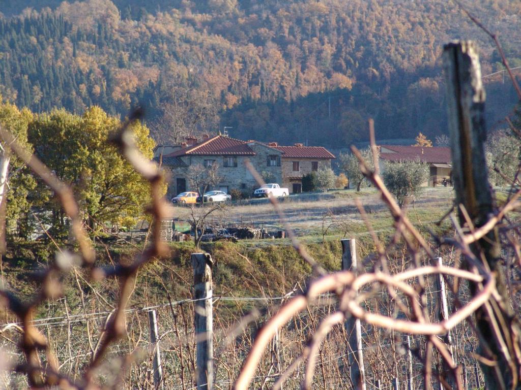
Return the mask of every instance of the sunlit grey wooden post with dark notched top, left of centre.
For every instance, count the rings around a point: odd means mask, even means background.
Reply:
[[[192,254],[197,390],[212,390],[214,385],[212,265],[209,254]]]

